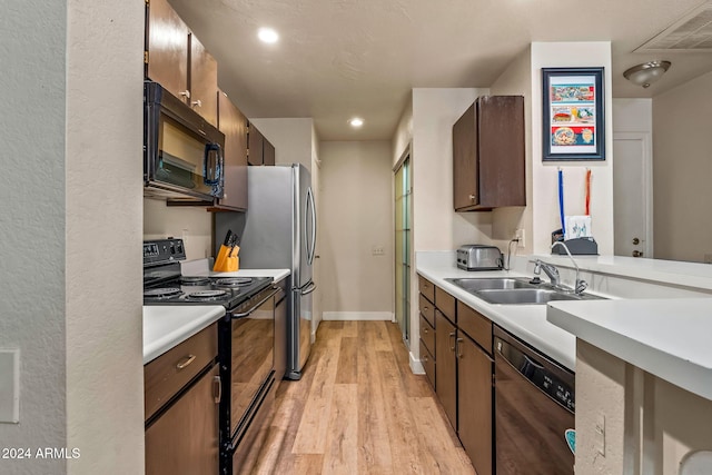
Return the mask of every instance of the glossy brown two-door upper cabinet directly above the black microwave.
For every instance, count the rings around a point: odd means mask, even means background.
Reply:
[[[146,78],[218,125],[218,63],[167,0],[146,3]]]

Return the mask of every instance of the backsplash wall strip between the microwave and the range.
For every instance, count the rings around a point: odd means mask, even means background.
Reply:
[[[144,239],[181,238],[186,259],[212,256],[212,214],[204,206],[166,206],[165,199],[144,198]]]

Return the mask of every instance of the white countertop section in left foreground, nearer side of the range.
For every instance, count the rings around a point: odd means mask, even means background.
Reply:
[[[221,305],[145,305],[144,364],[196,335],[225,315]]]

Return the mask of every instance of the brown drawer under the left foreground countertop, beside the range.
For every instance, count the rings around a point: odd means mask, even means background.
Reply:
[[[217,354],[217,324],[212,324],[147,364],[144,367],[145,418],[152,416]]]

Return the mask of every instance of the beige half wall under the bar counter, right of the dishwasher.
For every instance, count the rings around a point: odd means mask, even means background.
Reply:
[[[710,414],[712,400],[576,340],[576,474],[679,474],[688,454],[712,448]]]

